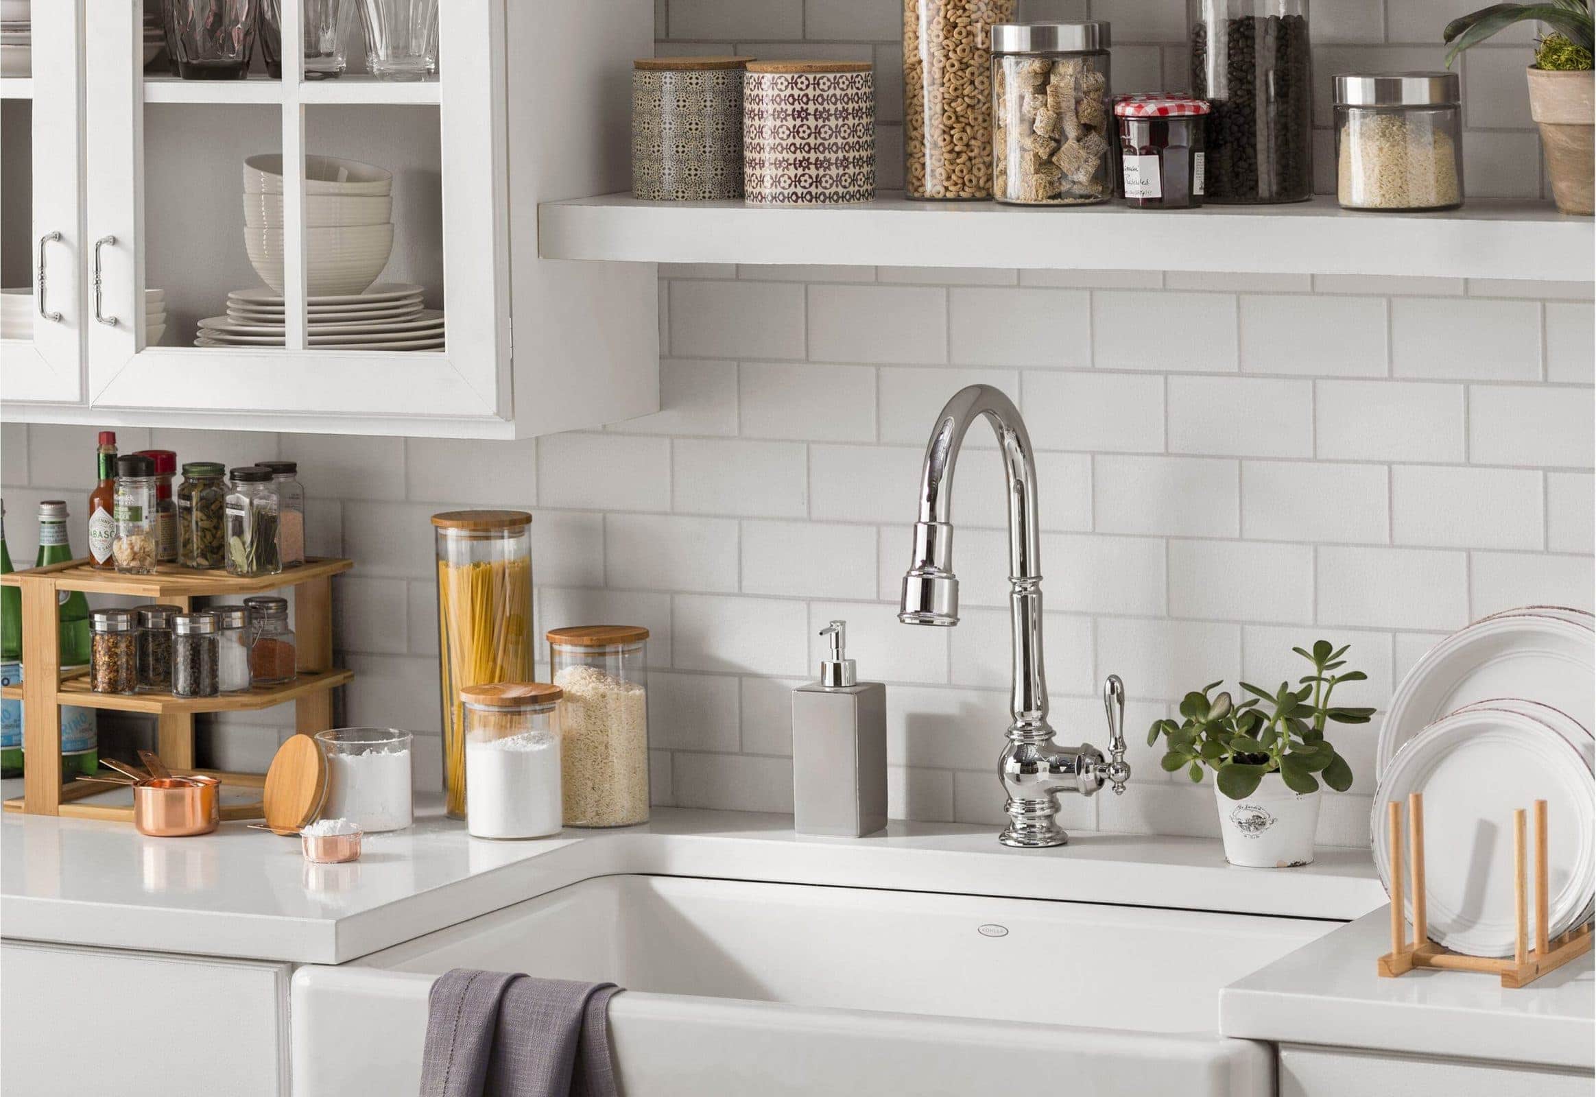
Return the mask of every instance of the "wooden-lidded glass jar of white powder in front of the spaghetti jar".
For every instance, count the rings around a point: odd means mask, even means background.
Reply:
[[[479,839],[560,832],[560,697],[547,682],[463,686],[466,829]]]

